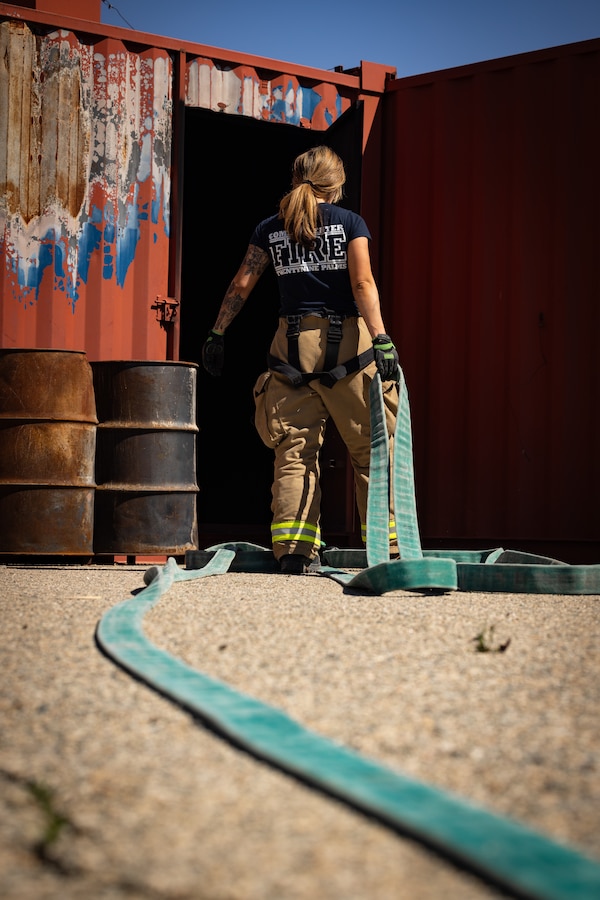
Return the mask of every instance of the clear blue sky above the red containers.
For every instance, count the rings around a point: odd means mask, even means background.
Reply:
[[[600,37],[600,0],[102,0],[110,25],[320,69],[416,75]]]

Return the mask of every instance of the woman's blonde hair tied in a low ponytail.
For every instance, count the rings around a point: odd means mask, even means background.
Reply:
[[[296,157],[292,190],[279,204],[279,214],[292,240],[314,246],[319,224],[317,198],[337,203],[346,181],[344,163],[330,147],[313,147]]]

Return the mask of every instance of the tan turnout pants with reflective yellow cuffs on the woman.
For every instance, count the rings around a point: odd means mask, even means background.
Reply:
[[[320,316],[302,319],[298,342],[302,371],[322,370],[328,325],[328,319]],[[271,344],[273,356],[284,361],[288,360],[286,331],[287,321],[280,319]],[[370,346],[371,337],[364,321],[355,317],[345,319],[338,361],[346,362]],[[286,553],[314,557],[319,550],[319,454],[330,416],[350,454],[364,535],[371,445],[369,387],[375,372],[375,363],[370,363],[365,369],[340,379],[332,388],[325,387],[318,379],[292,387],[285,377],[270,371],[264,372],[256,382],[256,428],[263,442],[275,451],[271,532],[277,559]],[[383,396],[392,443],[398,411],[395,382],[384,383]],[[395,543],[390,510],[392,551]]]

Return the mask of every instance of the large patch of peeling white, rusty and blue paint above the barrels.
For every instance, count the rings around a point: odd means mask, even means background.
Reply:
[[[122,288],[149,209],[168,237],[171,83],[164,52],[0,23],[0,249],[19,302],[52,277],[74,311],[96,253]]]

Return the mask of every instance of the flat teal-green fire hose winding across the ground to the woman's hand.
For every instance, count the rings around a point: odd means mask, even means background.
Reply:
[[[436,555],[424,552],[416,524],[410,417],[402,378],[400,396],[392,491],[402,558],[389,560],[389,448],[377,377],[371,398],[374,493],[368,505],[366,558],[363,551],[325,551],[319,574],[375,594],[423,588],[511,590],[515,586],[526,592],[600,592],[600,567],[578,567],[590,571],[569,578],[565,570],[574,567],[556,565],[552,560],[548,564],[542,560],[539,566],[531,561],[515,564],[515,558],[522,560],[527,554],[509,553],[508,561],[502,563],[506,556],[502,549]],[[385,517],[379,516],[381,510]],[[270,551],[244,543],[194,551],[187,555],[186,564],[182,569],[169,559],[162,569],[148,570],[147,587],[103,616],[97,640],[115,662],[257,757],[410,834],[518,897],[600,897],[600,864],[574,848],[363,757],[154,646],[144,634],[144,616],[176,582],[230,571],[277,571]],[[344,568],[361,571],[353,574]],[[532,570],[538,568],[544,571],[534,575]],[[516,569],[521,571],[518,578]],[[476,574],[480,572],[486,574]],[[499,578],[497,572],[502,572]],[[564,590],[569,586],[571,591]]]

